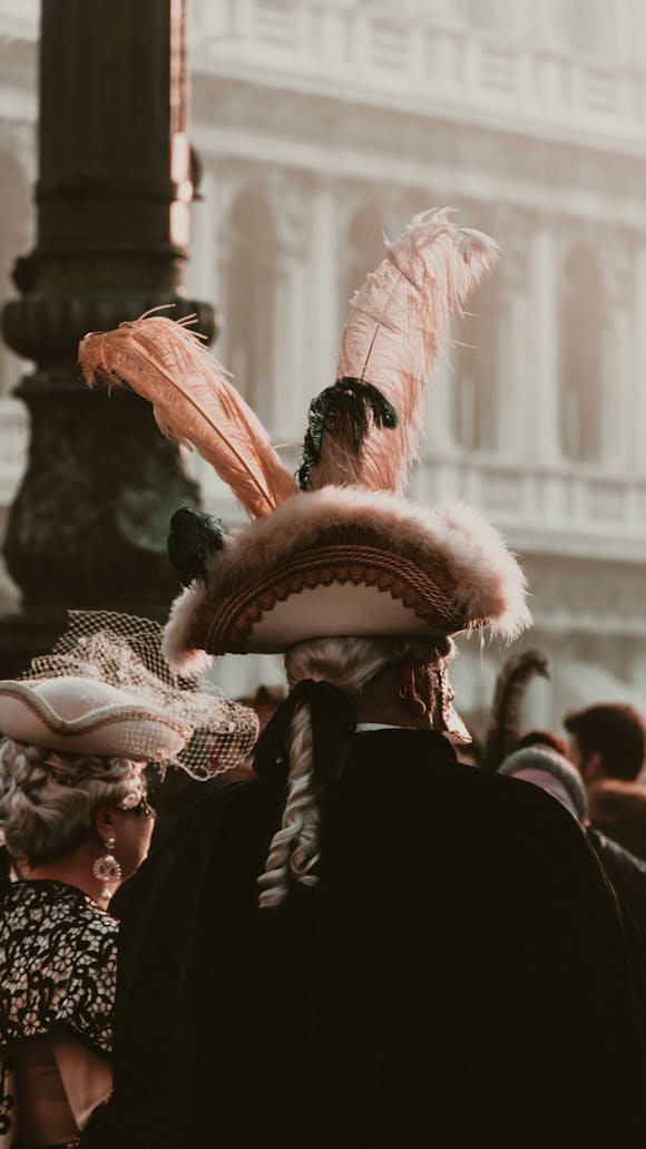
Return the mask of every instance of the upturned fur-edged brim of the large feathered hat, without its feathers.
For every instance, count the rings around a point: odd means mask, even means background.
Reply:
[[[342,634],[456,634],[529,625],[524,576],[461,504],[428,510],[352,487],[295,495],[244,527],[177,600],[164,653],[280,651]]]

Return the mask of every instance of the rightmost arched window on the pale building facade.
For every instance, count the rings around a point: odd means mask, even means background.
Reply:
[[[560,340],[561,449],[593,463],[601,455],[604,291],[592,252],[575,248],[566,263]]]

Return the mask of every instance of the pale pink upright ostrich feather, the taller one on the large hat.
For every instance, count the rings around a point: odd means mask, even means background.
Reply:
[[[451,315],[497,262],[498,245],[456,228],[452,209],[417,215],[356,293],[343,331],[337,385],[372,384],[397,412],[398,425],[373,423],[356,449],[349,422],[322,442],[308,489],[358,484],[403,494],[417,460],[429,376]]]

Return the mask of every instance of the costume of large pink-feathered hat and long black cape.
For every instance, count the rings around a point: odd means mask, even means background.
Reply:
[[[644,1135],[621,923],[581,828],[539,791],[460,765],[443,737],[464,733],[451,635],[511,639],[530,620],[480,515],[404,498],[450,316],[496,257],[443,211],[388,246],[312,403],[297,481],[182,325],[150,316],[81,345],[88,383],[148,398],[251,518],[227,535],[176,516],[176,668],[344,635],[437,651],[434,731],[357,726],[322,672],[296,681],[257,780],[195,807],[117,897],[120,1149]]]

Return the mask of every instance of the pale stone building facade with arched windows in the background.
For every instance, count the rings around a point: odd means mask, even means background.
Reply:
[[[465,499],[522,556],[553,676],[535,722],[646,708],[646,8],[640,0],[188,0],[201,161],[187,287],[297,457],[347,303],[427,207],[493,234],[497,273],[429,388],[420,501]],[[29,246],[37,5],[0,0],[0,291]],[[0,363],[0,504],[26,429]],[[209,509],[234,520],[200,462]],[[466,711],[497,661],[464,643]],[[235,691],[273,677],[227,660]]]

